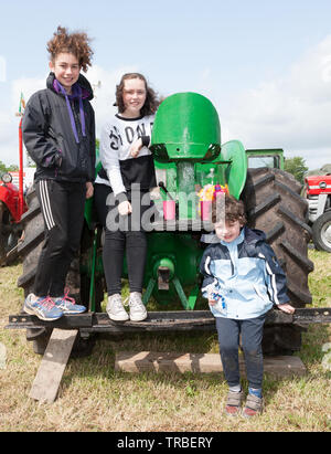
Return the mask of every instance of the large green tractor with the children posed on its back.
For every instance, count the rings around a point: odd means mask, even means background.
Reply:
[[[199,209],[197,193],[206,184],[227,184],[229,193],[245,202],[248,225],[266,232],[286,271],[291,304],[303,308],[311,303],[308,274],[313,264],[307,256],[311,230],[305,221],[308,204],[300,197],[301,186],[281,169],[282,150],[246,151],[238,140],[221,145],[217,112],[207,98],[195,93],[174,94],[162,102],[151,144],[159,187],[152,191],[154,217],[148,233],[143,294],[148,319],[115,323],[102,310],[106,291],[103,231],[90,200],[86,203],[81,254],[67,277],[72,293],[88,312],[64,316],[52,324],[33,316],[12,319],[13,327],[19,324],[26,328],[26,338],[34,340],[36,352],[44,350],[53,326],[75,327],[84,339],[104,331],[214,329],[206,300],[201,297],[199,273],[206,246],[202,240],[212,241],[213,236],[211,223],[202,221]],[[258,151],[271,157],[273,165],[248,168]],[[43,219],[33,189],[26,199],[29,211],[22,219],[24,240],[19,249],[23,273],[18,283],[25,295],[31,292],[43,242]],[[173,220],[164,220],[162,213],[163,201],[169,199],[175,203]],[[126,265],[122,273],[125,278]],[[265,326],[264,351],[292,352],[300,346],[300,327],[284,316],[270,315]]]

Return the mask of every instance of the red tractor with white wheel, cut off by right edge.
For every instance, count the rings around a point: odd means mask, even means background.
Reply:
[[[309,221],[314,246],[331,252],[331,166],[323,166],[320,172],[323,175],[310,175],[305,179]]]

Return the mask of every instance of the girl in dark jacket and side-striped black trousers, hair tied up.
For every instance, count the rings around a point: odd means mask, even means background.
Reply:
[[[45,229],[34,292],[26,296],[24,310],[43,320],[85,310],[64,287],[81,243],[85,199],[93,196],[93,89],[81,74],[90,66],[89,41],[86,33],[57,28],[47,43],[46,88],[31,96],[22,123],[24,145],[36,163],[34,183]]]

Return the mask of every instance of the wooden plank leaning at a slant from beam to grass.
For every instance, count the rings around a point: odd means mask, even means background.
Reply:
[[[30,398],[47,403],[55,401],[77,332],[77,329],[53,329],[34,378]]]

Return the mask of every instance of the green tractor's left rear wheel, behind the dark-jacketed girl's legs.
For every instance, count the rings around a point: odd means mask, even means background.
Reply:
[[[18,279],[18,286],[24,288],[24,297],[33,292],[36,266],[44,243],[44,221],[34,187],[26,194],[26,203],[29,210],[22,217],[24,225],[23,241],[19,244],[19,254],[23,257],[23,273]],[[71,295],[74,296],[78,304],[88,305],[88,299],[84,298],[83,300],[81,298],[79,258],[73,260],[71,264],[66,286],[71,288]],[[83,293],[85,294],[85,292]],[[28,329],[26,340],[33,341],[35,353],[43,355],[51,334],[51,328]],[[82,341],[79,339],[81,337],[77,336],[76,347],[74,346],[73,352],[79,353],[78,350],[83,344],[84,350],[86,350],[85,339]]]

